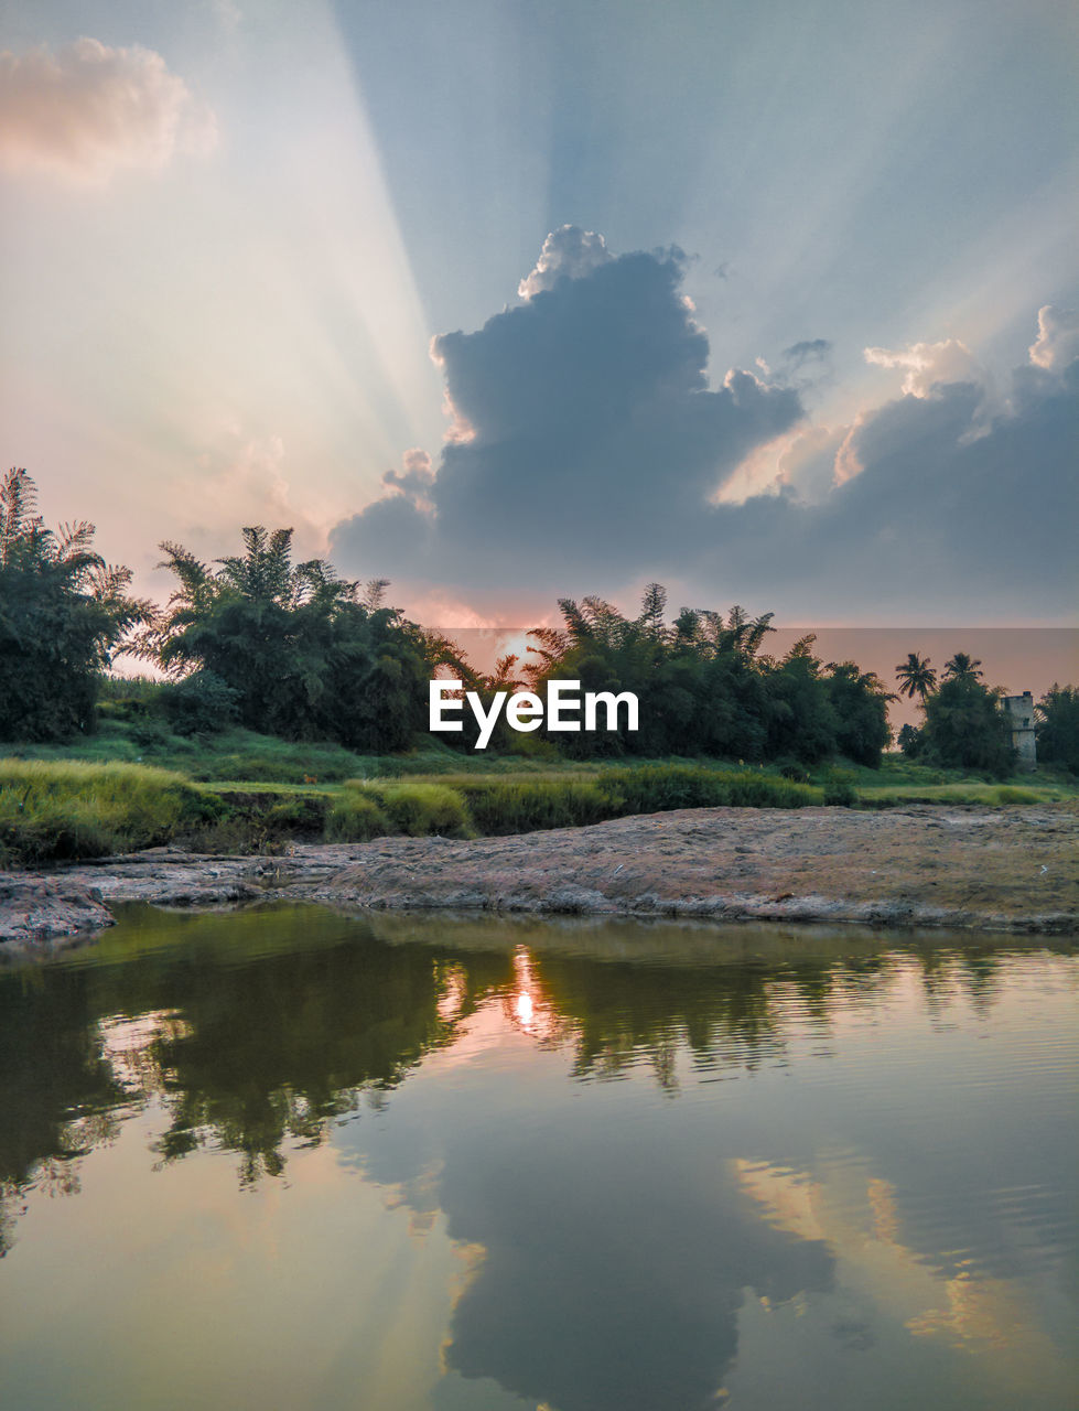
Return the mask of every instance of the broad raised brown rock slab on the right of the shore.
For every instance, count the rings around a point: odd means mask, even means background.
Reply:
[[[384,838],[313,889],[357,907],[1079,927],[1065,809],[687,809],[512,838]]]

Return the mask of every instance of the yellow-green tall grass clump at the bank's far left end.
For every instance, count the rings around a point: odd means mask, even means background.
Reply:
[[[0,861],[6,864],[150,848],[221,811],[219,800],[165,769],[0,761]]]

